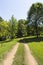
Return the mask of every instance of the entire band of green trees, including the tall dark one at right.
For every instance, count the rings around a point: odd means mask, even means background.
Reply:
[[[43,4],[32,4],[28,11],[27,20],[16,20],[12,15],[9,21],[0,17],[0,41],[36,35],[43,35]]]

